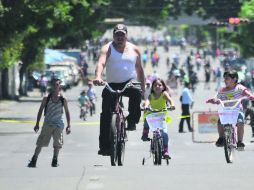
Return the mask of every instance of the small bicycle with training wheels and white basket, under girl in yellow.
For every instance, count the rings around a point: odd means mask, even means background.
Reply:
[[[147,140],[150,141],[150,156],[148,158],[143,158],[142,165],[145,165],[145,161],[151,157],[153,157],[153,164],[154,165],[161,165],[163,154],[164,154],[164,144],[162,133],[163,130],[167,127],[166,122],[166,111],[173,110],[174,108],[167,108],[165,110],[155,110],[148,108],[151,112],[147,115],[146,120],[149,125],[149,130],[152,131],[152,138],[148,138]],[[144,109],[141,109],[144,111]],[[169,164],[169,159],[165,158],[167,165]]]

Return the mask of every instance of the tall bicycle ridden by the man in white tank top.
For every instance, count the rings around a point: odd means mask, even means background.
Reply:
[[[111,165],[122,166],[124,163],[125,143],[127,141],[126,133],[126,117],[123,113],[122,94],[127,88],[140,88],[140,82],[128,82],[122,90],[112,89],[108,83],[105,83],[106,88],[110,93],[116,96],[114,103],[114,111],[110,125],[110,161]]]

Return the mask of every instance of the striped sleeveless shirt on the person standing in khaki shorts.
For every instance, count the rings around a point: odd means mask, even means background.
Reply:
[[[64,128],[63,105],[60,98],[56,102],[52,101],[50,98],[47,105],[44,124],[47,126],[57,126],[59,128]]]

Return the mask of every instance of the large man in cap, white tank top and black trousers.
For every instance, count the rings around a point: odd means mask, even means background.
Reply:
[[[117,24],[113,30],[113,41],[104,45],[101,49],[98,64],[96,66],[95,85],[102,85],[102,73],[106,67],[106,80],[113,88],[122,89],[130,80],[141,82],[142,93],[145,89],[144,71],[141,65],[141,54],[138,47],[127,41],[127,27]],[[140,103],[142,93],[140,89],[128,88],[124,96],[129,97],[129,115],[127,116],[127,130],[136,130],[141,111]],[[114,109],[115,97],[107,90],[102,92],[102,113],[100,116],[100,136],[98,154],[110,154],[109,129],[111,123],[111,113]]]

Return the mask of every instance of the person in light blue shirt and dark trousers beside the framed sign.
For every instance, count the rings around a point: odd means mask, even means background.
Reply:
[[[190,124],[190,106],[193,105],[193,99],[190,93],[190,88],[191,88],[191,84],[188,82],[184,83],[184,89],[182,91],[182,95],[180,97],[180,101],[182,104],[182,115],[181,115],[181,120],[179,123],[179,133],[184,133],[183,130],[183,124],[184,124],[184,120],[187,121],[187,125],[188,125],[188,129],[190,132],[193,131],[191,124]]]

